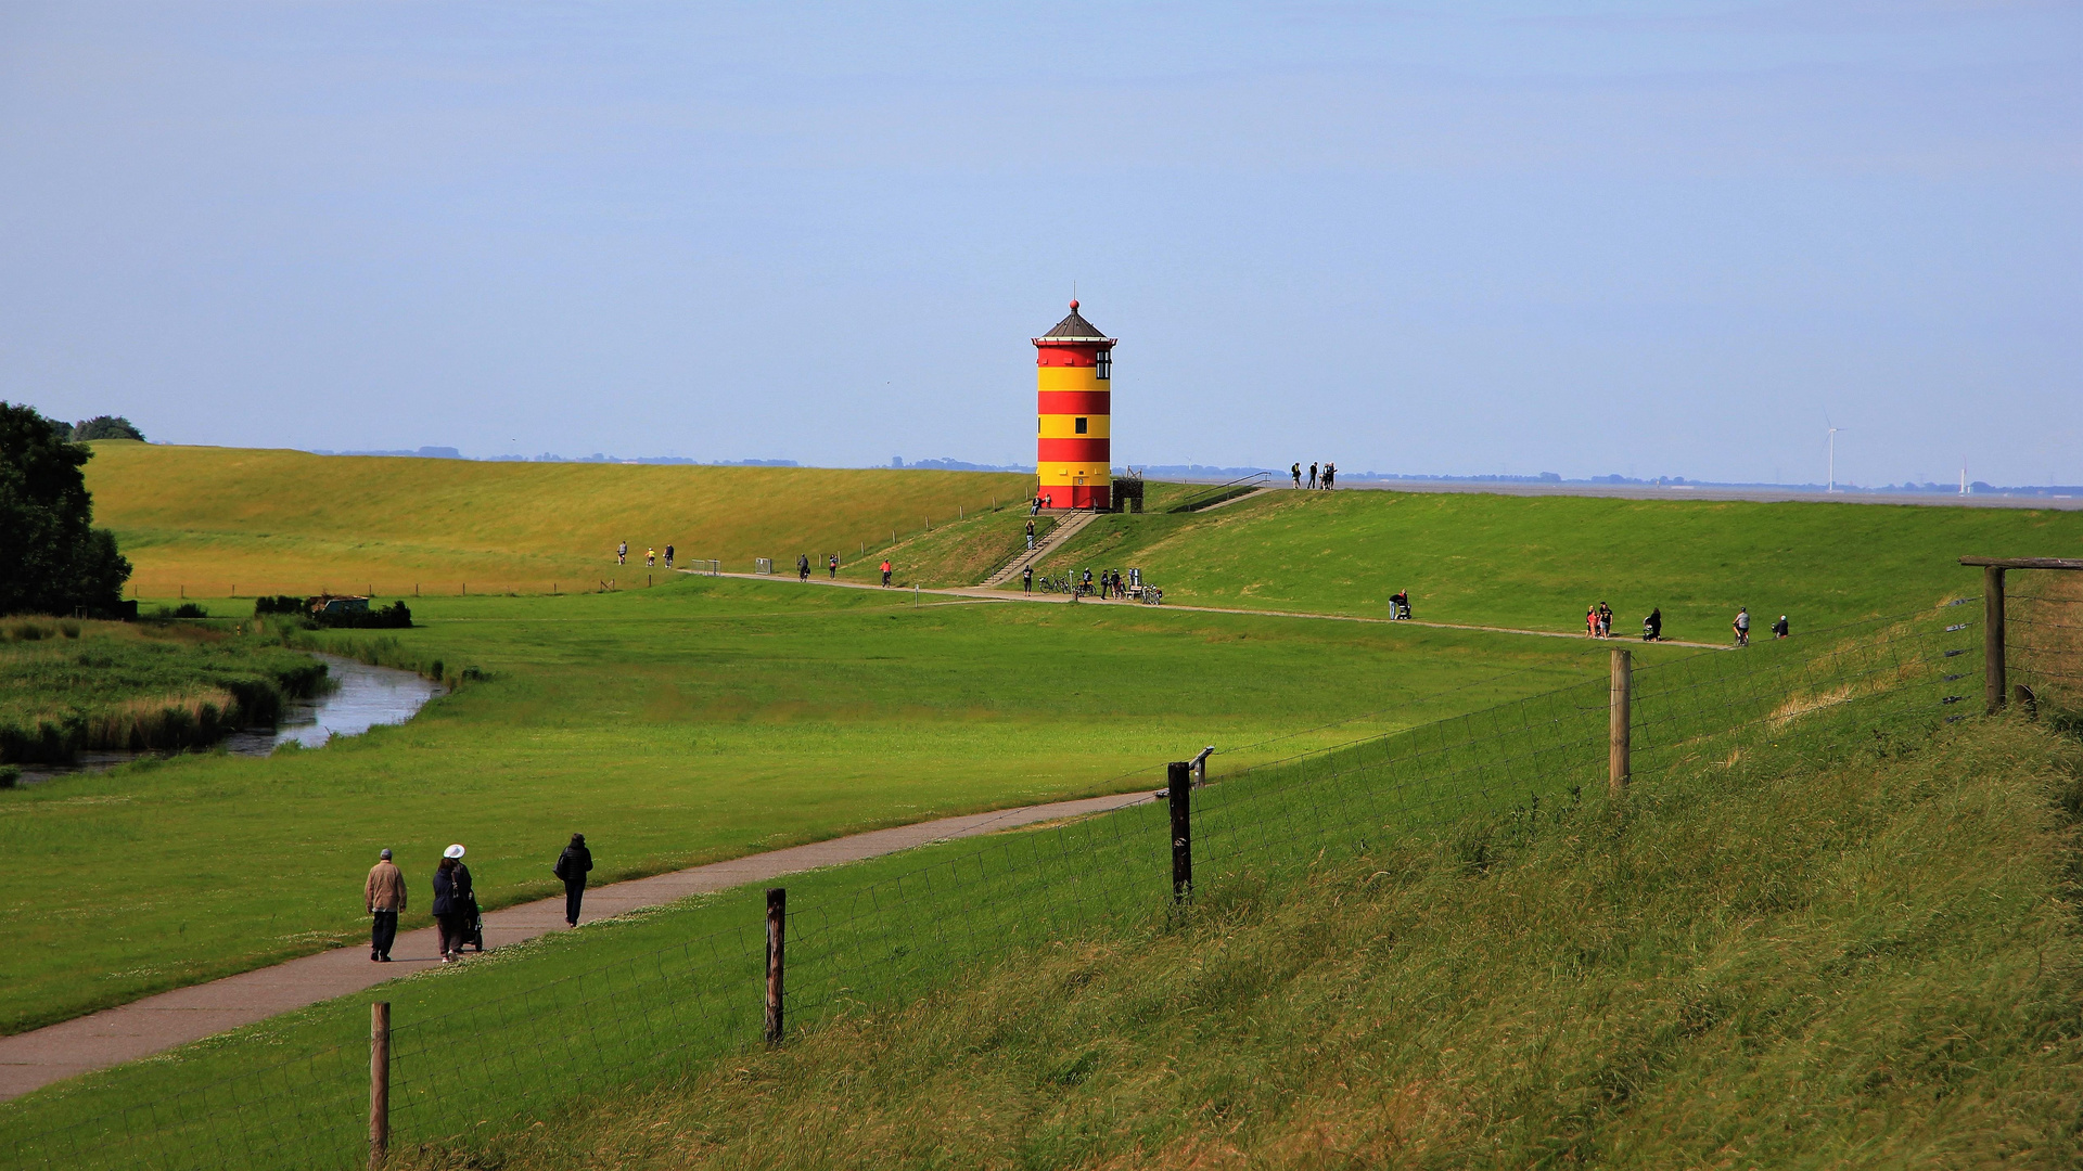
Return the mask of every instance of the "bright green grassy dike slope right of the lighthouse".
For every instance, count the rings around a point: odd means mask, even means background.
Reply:
[[[987,525],[1023,525],[992,517]],[[1962,554],[2083,556],[2083,510],[1269,492],[1210,513],[1100,517],[1048,571],[1139,567],[1166,604],[1581,631],[1610,602],[1635,636],[1723,642],[1737,606],[1818,629],[1973,594]]]

